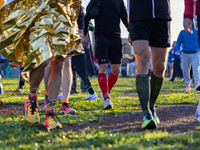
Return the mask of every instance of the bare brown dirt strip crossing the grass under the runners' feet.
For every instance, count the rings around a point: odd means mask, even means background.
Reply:
[[[39,108],[42,109],[43,106]],[[173,133],[194,132],[196,126],[200,126],[195,118],[195,105],[167,105],[156,108],[157,115],[160,118],[158,128],[153,131],[167,131]],[[24,115],[23,105],[4,105],[0,107],[0,116]],[[112,116],[102,116],[99,122],[85,123],[81,125],[63,126],[64,131],[72,130],[81,132],[82,129],[88,128],[87,132],[97,129],[118,132],[144,132],[141,129],[142,111],[133,111],[131,114],[120,114]]]

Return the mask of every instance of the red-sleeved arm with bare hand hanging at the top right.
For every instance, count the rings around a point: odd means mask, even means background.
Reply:
[[[193,0],[185,0],[183,27],[188,33],[192,33],[193,11]]]

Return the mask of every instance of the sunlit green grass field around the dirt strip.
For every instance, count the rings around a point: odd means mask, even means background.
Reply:
[[[157,107],[171,104],[196,105],[198,103],[200,93],[192,90],[185,92],[185,85],[180,79],[176,79],[174,83],[168,83],[167,80],[169,79],[165,79],[162,88],[162,92],[167,94],[158,97]],[[5,92],[1,99],[4,100],[6,105],[24,104],[29,93],[28,83],[25,84],[22,93],[13,92],[18,87],[18,79],[3,78],[1,83]],[[96,78],[92,78],[92,85],[96,93],[100,95]],[[78,90],[80,89],[78,88]],[[38,102],[42,105],[45,91],[43,83],[40,91]],[[57,103],[56,114],[59,122],[67,127],[74,124],[82,125],[87,122],[98,122],[101,116],[132,113],[134,110],[141,109],[138,97],[125,96],[127,93],[133,92],[136,92],[135,78],[119,78],[111,93],[114,109],[102,110],[103,101],[100,98],[96,101],[82,101],[81,99],[86,97],[87,93],[79,93],[70,95],[69,98],[70,106],[76,109],[77,115],[60,115],[61,101]],[[40,110],[41,122],[39,125],[28,123],[23,115],[0,116],[0,149],[200,149],[198,127],[195,132],[179,134],[164,131],[121,133],[106,130],[94,130],[88,133],[86,132],[88,129],[84,129],[82,132],[64,132],[57,129],[48,132],[42,126],[44,114],[45,111]]]

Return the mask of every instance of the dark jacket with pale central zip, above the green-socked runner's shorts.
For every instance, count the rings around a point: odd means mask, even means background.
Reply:
[[[171,21],[170,0],[130,0],[130,22],[143,19]]]

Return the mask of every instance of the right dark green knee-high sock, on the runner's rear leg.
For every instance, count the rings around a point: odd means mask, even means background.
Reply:
[[[150,94],[150,109],[153,109],[156,99],[163,85],[163,78],[156,77],[153,73],[151,76],[151,94]]]

